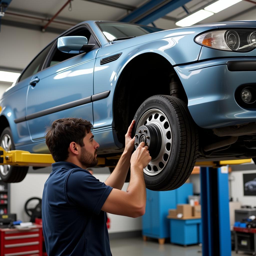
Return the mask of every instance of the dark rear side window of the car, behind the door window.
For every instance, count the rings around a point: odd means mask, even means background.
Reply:
[[[27,69],[23,72],[19,81],[22,81],[27,77],[33,76],[40,70],[40,68],[43,65],[45,58],[53,44],[54,44],[54,42],[52,42],[43,51],[40,52],[40,54],[30,63],[30,65],[27,67]]]

